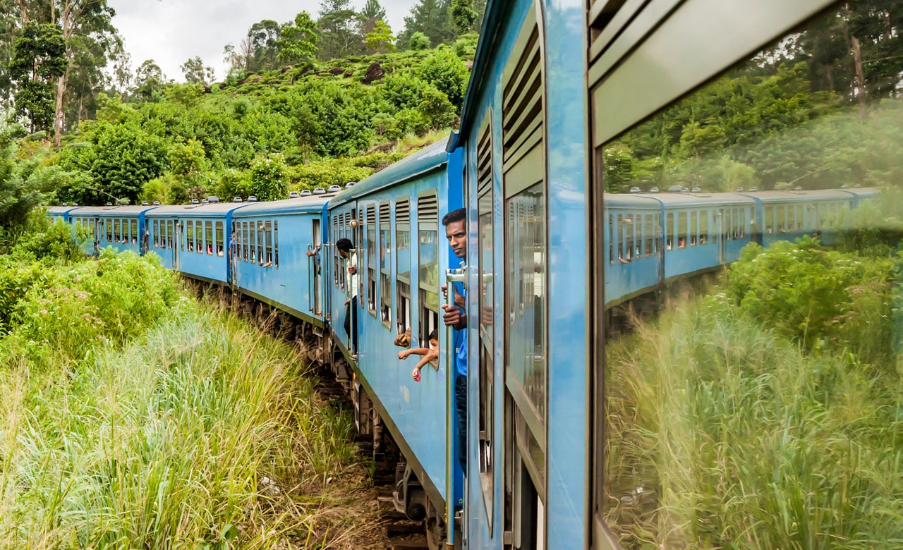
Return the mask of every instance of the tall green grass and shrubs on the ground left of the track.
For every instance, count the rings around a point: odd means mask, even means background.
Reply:
[[[302,350],[168,294],[165,270],[133,256],[33,265],[46,276],[28,279],[0,334],[0,547],[350,548],[378,536],[354,424],[317,396]],[[126,310],[144,315],[140,331],[126,330]],[[49,317],[66,330],[42,329]]]

